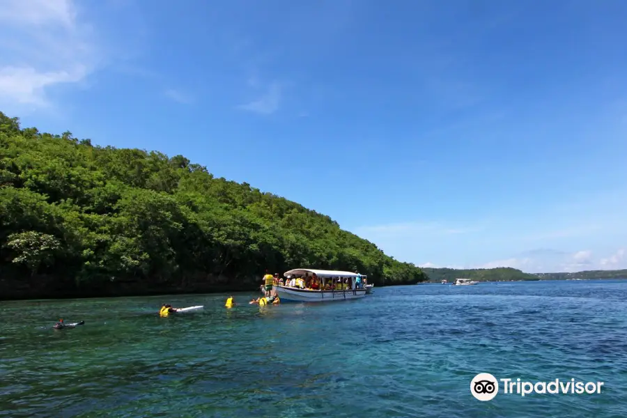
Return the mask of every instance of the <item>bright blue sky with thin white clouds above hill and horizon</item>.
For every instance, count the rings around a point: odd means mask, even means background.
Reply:
[[[417,265],[627,268],[627,2],[4,0],[0,109]]]

